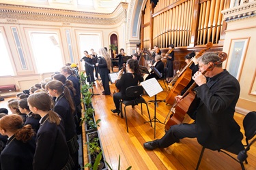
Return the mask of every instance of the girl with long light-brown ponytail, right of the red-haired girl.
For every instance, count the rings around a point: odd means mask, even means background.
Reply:
[[[39,114],[40,129],[36,135],[33,169],[73,169],[65,138],[63,120],[52,109],[52,99],[45,92],[37,92],[27,99],[29,109]]]

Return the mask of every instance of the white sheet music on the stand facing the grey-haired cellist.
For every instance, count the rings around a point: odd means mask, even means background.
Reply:
[[[149,80],[141,82],[141,85],[150,97],[157,95],[163,90],[156,78],[150,78]]]

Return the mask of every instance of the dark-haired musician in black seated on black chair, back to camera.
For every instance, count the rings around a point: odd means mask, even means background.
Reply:
[[[120,99],[132,100],[130,97],[126,97],[126,88],[130,86],[137,86],[139,82],[143,82],[143,78],[139,73],[139,63],[137,60],[128,59],[126,63],[126,73],[122,74],[122,70],[118,72],[118,79],[115,86],[119,90],[113,95],[115,103],[115,109],[111,109],[113,113],[120,113]]]

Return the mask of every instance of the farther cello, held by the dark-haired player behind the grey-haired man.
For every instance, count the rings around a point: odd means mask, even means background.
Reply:
[[[199,58],[203,52],[206,50],[209,50],[212,48],[212,43],[208,42],[206,44],[206,48],[201,50],[195,58]],[[165,102],[172,105],[175,102],[174,97],[177,95],[180,95],[180,92],[188,85],[188,83],[191,80],[192,77],[192,70],[189,68],[190,65],[193,64],[193,61],[190,61],[175,77],[173,80],[168,84],[168,87],[170,88],[169,93],[167,92],[167,97],[165,99]],[[174,84],[174,85],[173,85]]]

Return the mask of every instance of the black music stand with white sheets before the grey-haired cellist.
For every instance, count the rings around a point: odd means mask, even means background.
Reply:
[[[150,97],[155,96],[154,118],[152,118],[152,120],[150,120],[150,121],[155,122],[155,124],[154,124],[154,138],[156,138],[156,122],[162,123],[162,122],[160,122],[160,120],[158,120],[158,118],[156,118],[156,102],[157,102],[156,101],[156,95],[159,92],[162,92],[163,89],[160,86],[159,82],[156,80],[156,78],[151,78],[149,80],[141,82],[141,85],[143,86],[144,90],[147,92],[147,94]],[[150,121],[147,121],[147,122],[150,122]],[[164,123],[162,123],[162,124],[164,124]]]

